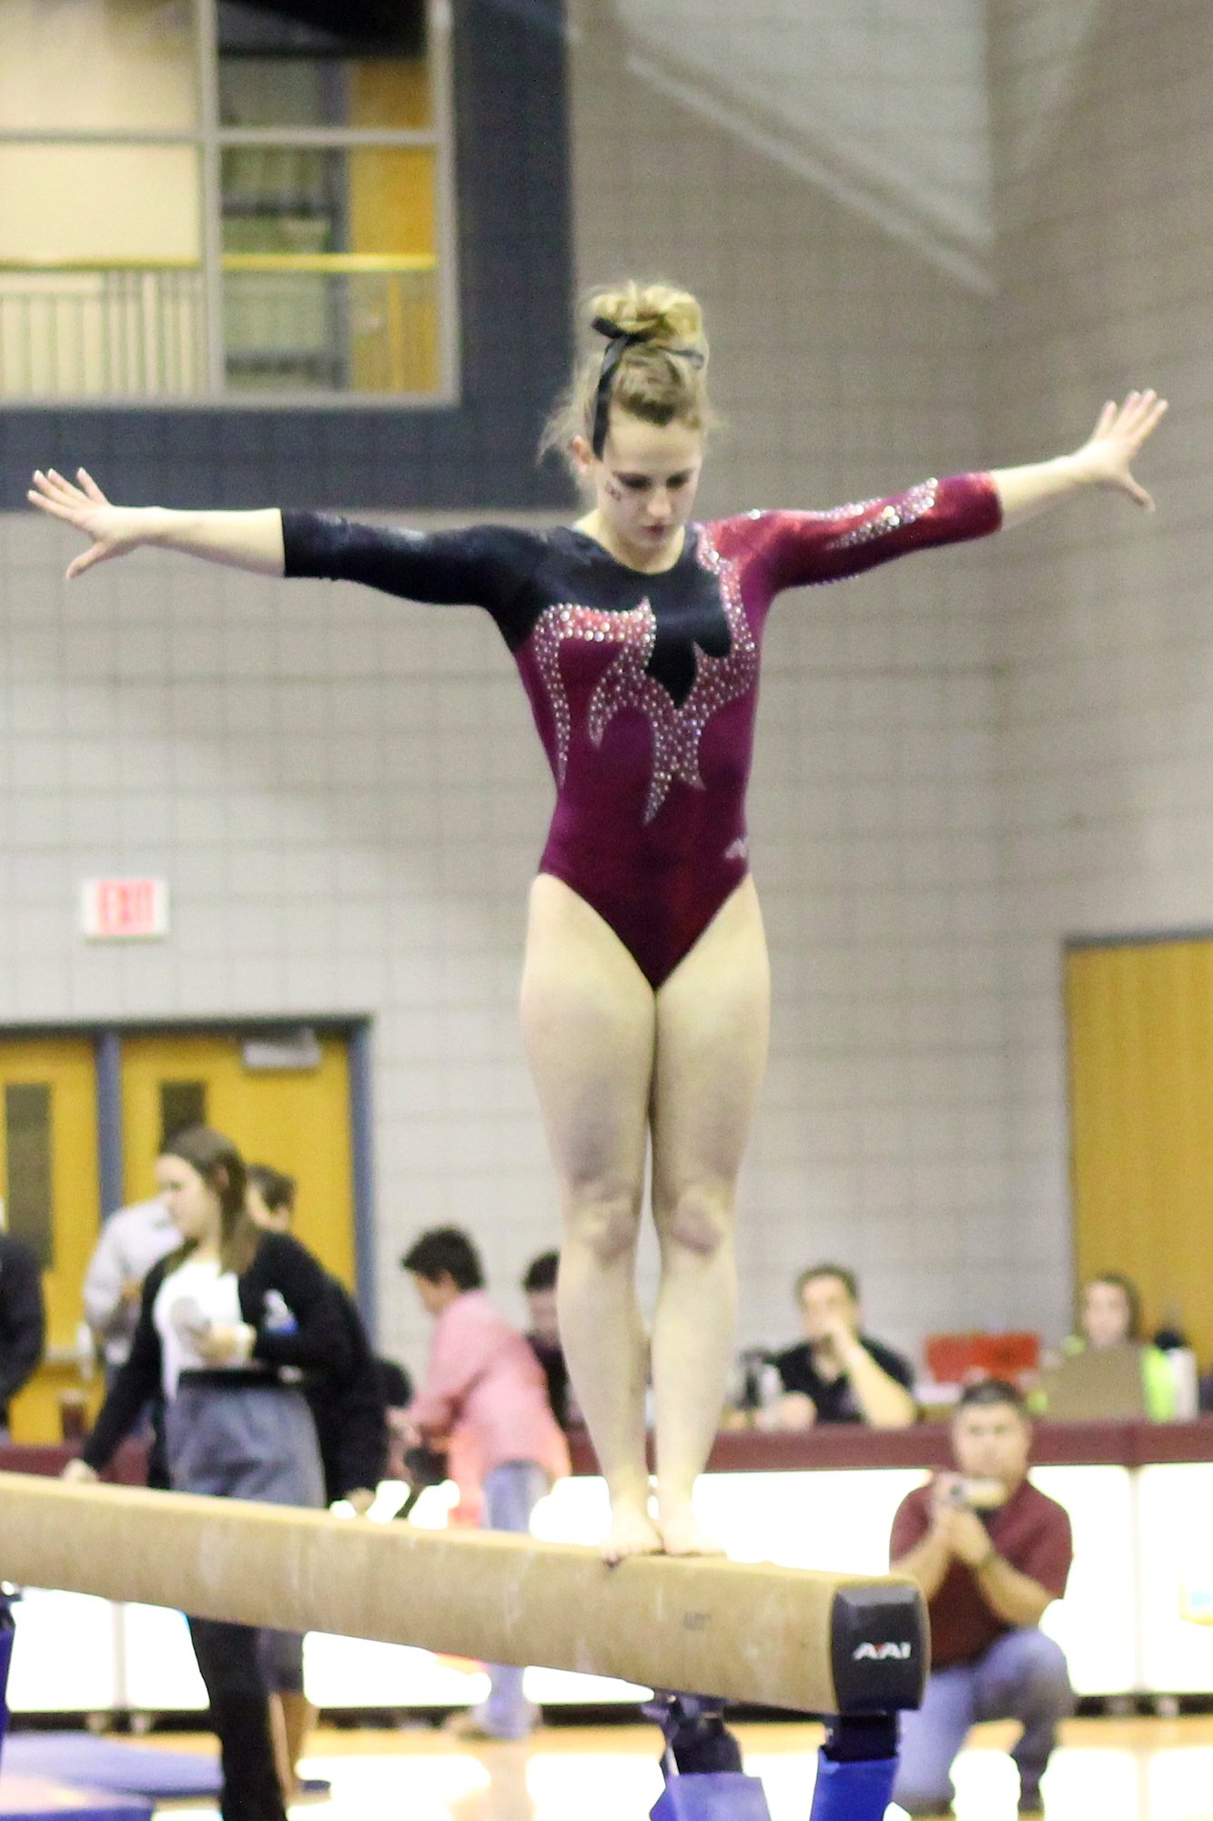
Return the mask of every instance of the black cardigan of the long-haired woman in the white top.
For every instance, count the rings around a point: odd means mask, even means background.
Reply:
[[[80,1459],[98,1471],[109,1464],[115,1450],[138,1422],[144,1406],[162,1389],[160,1333],[153,1307],[160,1284],[168,1277],[173,1256],[153,1264],[144,1278],[138,1324],[131,1353],[97,1413],[93,1433],[80,1450]],[[253,1358],[266,1366],[299,1366],[341,1377],[350,1369],[350,1337],[333,1297],[333,1280],[306,1247],[290,1233],[262,1233],[253,1262],[237,1278],[240,1317],[257,1329]],[[270,1328],[266,1297],[279,1293],[295,1317],[295,1328]],[[273,1382],[273,1375],[266,1375]]]

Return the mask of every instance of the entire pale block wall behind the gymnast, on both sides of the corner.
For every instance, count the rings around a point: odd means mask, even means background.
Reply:
[[[736,7],[683,13],[716,42]],[[729,419],[707,514],[1053,453],[1135,382],[1175,401],[1142,464],[1157,519],[1084,501],[776,608],[747,1340],[792,1337],[789,1282],[818,1255],[858,1266],[872,1329],[909,1348],[953,1324],[1058,1333],[1060,943],[1213,921],[1208,20],[1191,0],[1009,13],[982,40],[982,7],[947,9],[936,93],[896,33],[872,60],[874,0],[849,9],[856,67],[889,86],[865,100],[887,178],[867,197],[854,164],[851,188],[814,169],[803,122],[780,158],[752,107],[701,106],[703,69],[694,106],[668,55],[656,87],[643,7],[630,38],[606,7],[574,16],[577,275],[703,295]],[[783,33],[796,67],[780,5],[747,29]],[[907,169],[938,184],[916,135],[943,113],[963,260],[943,191],[889,217]],[[55,526],[9,514],[0,539],[0,1016],[372,1012],[382,1338],[417,1360],[395,1256],[433,1220],[477,1231],[517,1309],[556,1220],[515,1023],[550,785],[492,626],[153,555],[67,590]],[[173,941],[86,949],[76,883],[126,869],[171,878]]]

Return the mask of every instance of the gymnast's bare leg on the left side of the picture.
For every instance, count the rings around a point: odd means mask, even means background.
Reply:
[[[561,1342],[610,1493],[608,1561],[652,1553],[636,1298],[654,992],[616,932],[561,880],[532,887],[523,1036],[561,1178]]]

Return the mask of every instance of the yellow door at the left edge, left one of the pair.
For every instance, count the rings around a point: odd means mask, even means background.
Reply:
[[[58,1393],[78,1382],[80,1286],[100,1220],[91,1040],[2,1040],[0,1102],[5,1224],[42,1266],[47,1317],[47,1357],[13,1402],[13,1439],[53,1442]]]

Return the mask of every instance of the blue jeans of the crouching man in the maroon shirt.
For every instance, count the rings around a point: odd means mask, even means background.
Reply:
[[[1056,1724],[1073,1706],[1065,1657],[1035,1628],[1005,1632],[973,1663],[933,1670],[918,1712],[902,1715],[894,1803],[912,1816],[947,1808],[953,1763],[980,1719],[1022,1723],[1011,1757],[1020,1772],[1020,1801],[1035,1799],[1056,1745]]]

